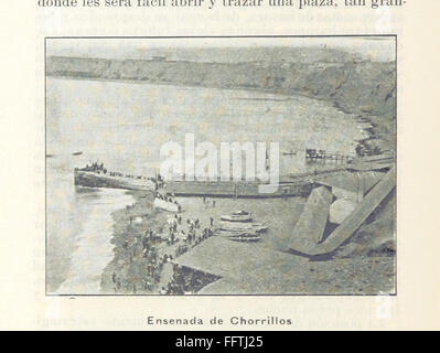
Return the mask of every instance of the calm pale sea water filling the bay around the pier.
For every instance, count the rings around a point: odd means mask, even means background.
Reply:
[[[279,142],[280,152],[308,147],[352,153],[365,138],[354,116],[301,96],[49,77],[46,99],[50,293],[99,293],[112,257],[111,212],[133,202],[122,190],[76,188],[75,167],[100,161],[111,171],[153,175],[162,143],[183,146],[185,133],[215,146]],[[286,172],[305,168],[301,157],[280,164]]]

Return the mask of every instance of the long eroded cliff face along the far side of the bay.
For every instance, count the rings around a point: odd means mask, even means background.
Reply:
[[[142,60],[47,58],[47,75],[100,79],[244,88],[302,94],[362,115],[389,115],[395,109],[394,63],[195,63]]]

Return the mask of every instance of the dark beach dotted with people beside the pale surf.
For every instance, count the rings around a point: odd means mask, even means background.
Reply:
[[[154,196],[150,192],[127,193],[135,202],[111,214],[114,257],[101,274],[101,293],[183,295],[198,291],[218,279],[172,265],[171,258],[197,246],[203,239],[169,244],[165,238],[173,214],[153,208]]]

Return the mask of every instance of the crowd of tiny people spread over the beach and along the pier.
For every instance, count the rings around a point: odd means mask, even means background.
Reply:
[[[167,263],[171,263],[175,257],[183,255],[192,247],[198,245],[203,240],[214,235],[214,218],[210,218],[210,224],[202,226],[198,218],[182,218],[181,205],[170,194],[162,194],[159,190],[164,186],[164,180],[160,174],[155,178],[136,176],[131,174],[122,174],[120,172],[107,171],[104,163],[87,163],[85,168],[75,169],[76,171],[94,172],[107,174],[109,176],[121,176],[132,179],[151,180],[155,185],[154,196],[168,203],[178,205],[178,213],[169,218],[168,229],[162,227],[154,229],[149,228],[141,231],[137,228],[141,224],[141,216],[132,215],[133,205],[126,207],[128,215],[128,229],[121,233],[116,248],[118,260],[115,263],[115,269],[110,271],[111,281],[115,292],[139,292],[155,291],[160,281],[163,267]],[[205,205],[215,207],[215,201],[208,202],[203,197]],[[139,220],[139,222],[138,222]],[[136,222],[135,222],[136,221]],[[144,233],[143,233],[144,232]],[[126,236],[128,235],[128,236]],[[120,261],[122,260],[122,263]],[[170,266],[170,265],[169,265]],[[196,291],[206,284],[206,275],[195,272],[193,270],[182,270],[179,266],[173,265],[173,277],[167,286],[162,286],[161,293],[185,293],[187,291]],[[165,277],[162,279],[167,280]],[[198,289],[197,289],[198,288]]]

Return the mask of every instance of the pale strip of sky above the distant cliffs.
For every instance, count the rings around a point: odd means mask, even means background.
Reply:
[[[344,50],[373,61],[395,60],[395,38],[198,38],[198,39],[49,39],[47,55],[149,58],[170,54],[174,60],[222,62],[227,57],[210,53],[214,47],[232,47],[235,52],[251,47],[328,47]],[[196,49],[196,50],[195,50]],[[201,50],[202,49],[202,50]],[[249,52],[249,51],[246,51]]]

